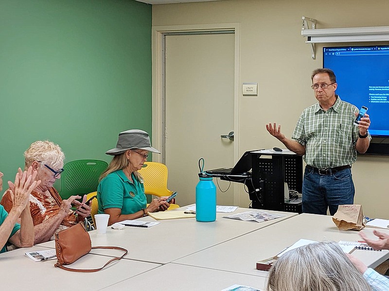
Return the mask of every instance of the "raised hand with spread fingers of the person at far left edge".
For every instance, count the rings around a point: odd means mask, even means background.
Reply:
[[[15,177],[15,183],[8,181],[10,188],[10,195],[12,199],[12,207],[23,210],[29,206],[29,198],[31,191],[40,185],[40,180],[35,181],[36,171],[33,171],[33,167],[28,168],[28,171],[21,171],[18,169]]]

